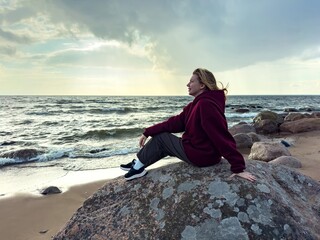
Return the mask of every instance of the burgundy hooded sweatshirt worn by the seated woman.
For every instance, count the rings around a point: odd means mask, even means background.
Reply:
[[[212,166],[219,163],[223,156],[231,164],[232,172],[243,172],[245,162],[228,131],[224,109],[223,90],[205,91],[189,103],[179,115],[146,128],[143,134],[148,137],[162,132],[184,132],[183,147],[194,165]]]

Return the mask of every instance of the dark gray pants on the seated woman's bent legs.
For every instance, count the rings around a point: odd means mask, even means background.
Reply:
[[[153,136],[137,153],[138,159],[145,167],[167,156],[177,157],[192,164],[184,152],[182,139],[167,132]]]

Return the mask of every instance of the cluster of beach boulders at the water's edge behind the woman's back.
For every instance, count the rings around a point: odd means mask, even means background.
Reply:
[[[290,134],[320,130],[320,112],[277,114],[262,111],[251,124],[239,123],[229,132],[237,148],[250,149],[248,159],[300,168],[299,159],[287,150],[294,143],[285,140]]]

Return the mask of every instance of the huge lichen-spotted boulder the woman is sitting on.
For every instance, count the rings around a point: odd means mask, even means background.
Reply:
[[[54,239],[320,239],[319,183],[260,161],[247,164],[255,183],[229,168],[181,162],[113,179]]]

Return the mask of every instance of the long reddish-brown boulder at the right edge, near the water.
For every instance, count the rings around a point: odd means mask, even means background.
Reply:
[[[280,125],[280,131],[300,133],[320,130],[320,118],[303,118],[292,122],[284,122]]]

